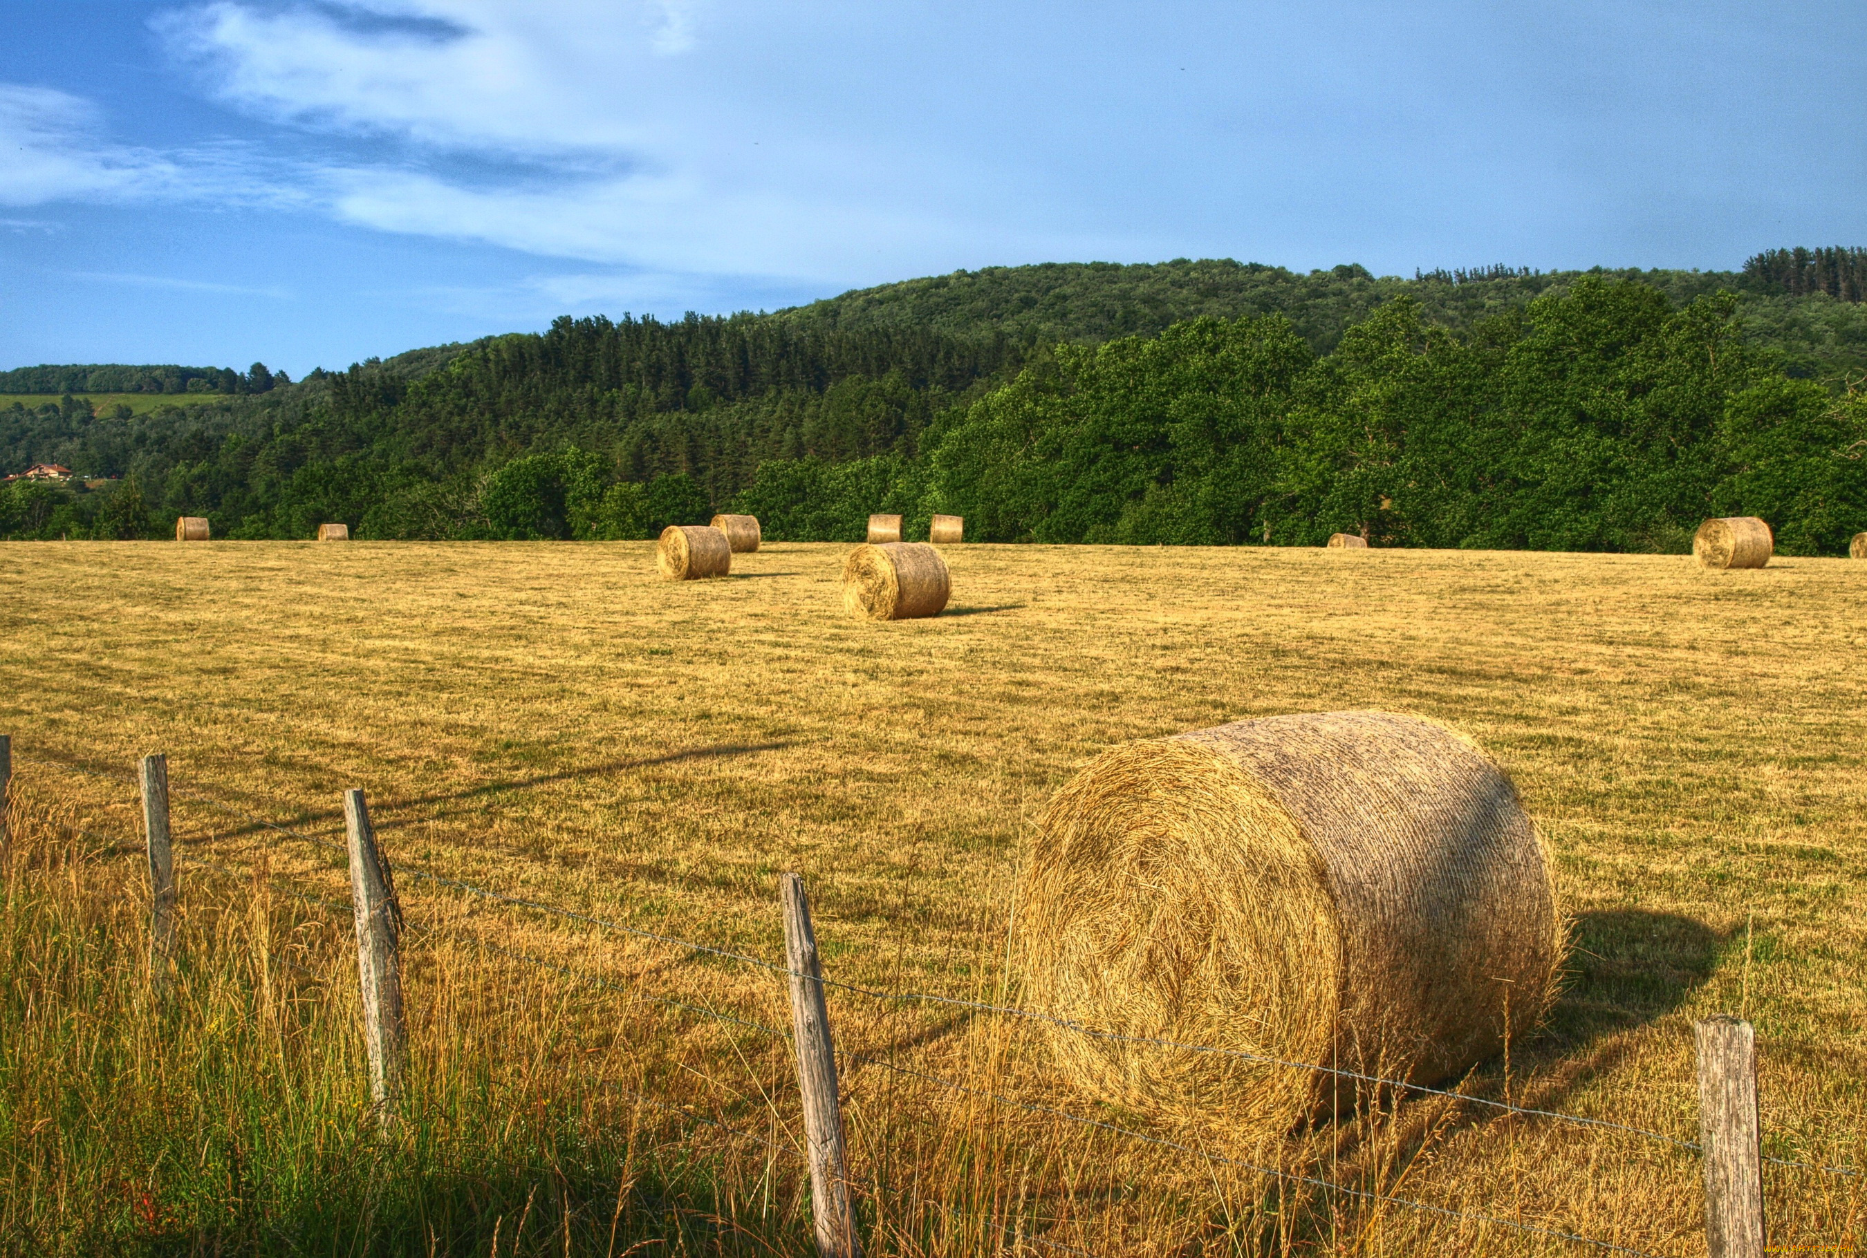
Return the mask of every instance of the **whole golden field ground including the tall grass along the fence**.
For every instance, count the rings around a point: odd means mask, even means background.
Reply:
[[[1845,564],[965,547],[948,616],[866,625],[840,558],[767,547],[676,584],[646,545],[0,549],[0,728],[50,827],[7,883],[0,1223],[52,1252],[605,1252],[627,1185],[614,1252],[805,1252],[786,1043],[681,1008],[784,1027],[769,971],[411,872],[777,959],[773,875],[799,868],[833,980],[1001,1002],[1018,851],[1075,767],[1331,707],[1477,735],[1555,849],[1574,972],[1467,1090],[1693,1139],[1690,1021],[1744,1012],[1766,1152],[1860,1163],[1867,707],[1839,648],[1867,646],[1867,579]],[[233,870],[181,866],[168,1002],[116,851],[146,750],[183,853]],[[349,918],[284,890],[342,903],[342,870],[250,819],[336,842],[345,786],[411,922],[394,1148],[360,1120]],[[1677,1146],[1451,1101],[1228,1146],[1085,1101],[1016,1019],[844,989],[831,1017],[874,1252],[1579,1252],[1434,1211],[1703,1245]],[[1772,1168],[1770,1217],[1772,1243],[1860,1243],[1861,1180]]]

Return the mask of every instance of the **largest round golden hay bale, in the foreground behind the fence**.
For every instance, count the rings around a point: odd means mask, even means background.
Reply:
[[[1027,1002],[1090,1092],[1234,1131],[1430,1084],[1535,1027],[1563,952],[1548,859],[1503,771],[1380,711],[1115,748],[1038,821],[1018,905]],[[1281,1062],[1281,1064],[1279,1064]],[[1327,1068],[1327,1069],[1318,1069]]]

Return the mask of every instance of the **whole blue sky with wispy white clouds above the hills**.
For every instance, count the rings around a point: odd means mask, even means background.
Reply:
[[[1867,245],[1867,6],[0,0],[0,368],[958,267]]]

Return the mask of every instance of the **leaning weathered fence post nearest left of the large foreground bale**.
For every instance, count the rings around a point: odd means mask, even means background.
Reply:
[[[797,1086],[805,1097],[805,1140],[810,1146],[810,1204],[818,1252],[823,1258],[861,1258],[855,1209],[849,1204],[849,1165],[842,1152],[842,1112],[836,1103],[836,1051],[823,1004],[823,967],[805,881],[779,877],[784,902],[784,965],[792,972],[792,1030],[797,1040]]]

